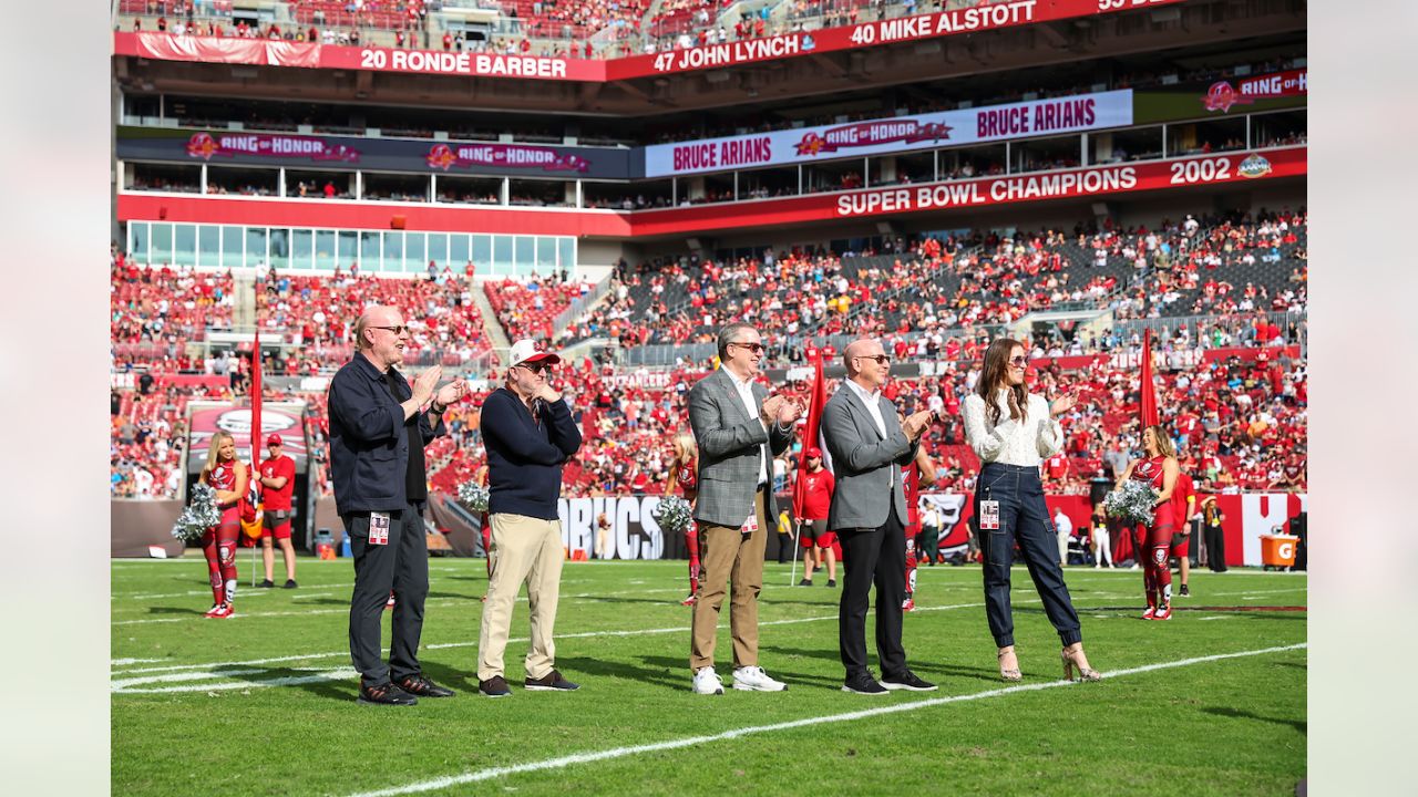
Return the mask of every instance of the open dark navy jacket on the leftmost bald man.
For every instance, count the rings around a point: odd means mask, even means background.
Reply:
[[[404,374],[397,373],[398,390],[389,394],[384,374],[364,355],[340,366],[330,380],[330,475],[335,481],[335,511],[393,512],[408,505],[404,491],[408,471],[408,437],[404,434],[404,408],[414,391]],[[420,413],[418,431],[424,445],[445,434]]]

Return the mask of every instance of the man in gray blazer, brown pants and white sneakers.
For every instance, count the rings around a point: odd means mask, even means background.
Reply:
[[[693,691],[722,695],[713,648],[726,583],[733,579],[729,628],[733,635],[733,688],[781,692],[787,685],[759,667],[759,591],[769,529],[778,516],[773,501],[773,457],[793,441],[794,401],[769,396],[754,383],[763,339],[747,323],[719,330],[719,370],[689,390],[689,425],[699,445],[699,559],[703,579],[689,641]]]

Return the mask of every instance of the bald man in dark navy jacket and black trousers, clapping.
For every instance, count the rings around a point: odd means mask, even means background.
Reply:
[[[410,384],[404,362],[408,326],[396,308],[369,306],[354,322],[354,357],[330,380],[330,475],[335,508],[354,554],[350,658],[360,674],[359,702],[411,706],[448,698],[418,667],[428,596],[424,445],[447,434],[444,410],[468,393],[464,380],[442,387],[434,366]],[[398,594],[389,664],[380,618]]]

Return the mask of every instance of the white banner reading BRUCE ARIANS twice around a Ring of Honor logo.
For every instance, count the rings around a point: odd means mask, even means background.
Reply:
[[[1048,133],[1122,128],[1133,122],[1132,89],[1011,102],[963,111],[872,119],[645,147],[645,176],[786,166],[912,152]]]

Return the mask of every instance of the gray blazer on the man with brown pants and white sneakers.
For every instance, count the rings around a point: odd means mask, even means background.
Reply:
[[[753,403],[763,408],[769,391],[753,386]],[[733,387],[733,379],[718,369],[700,379],[689,390],[689,427],[699,445],[699,498],[695,499],[695,519],[716,526],[737,528],[753,512],[753,496],[759,489],[760,452],[767,442],[778,455],[793,442],[793,428],[777,424],[763,431],[759,416],[749,416]],[[769,462],[773,474],[773,462]],[[777,518],[773,481],[769,479],[769,523]]]

